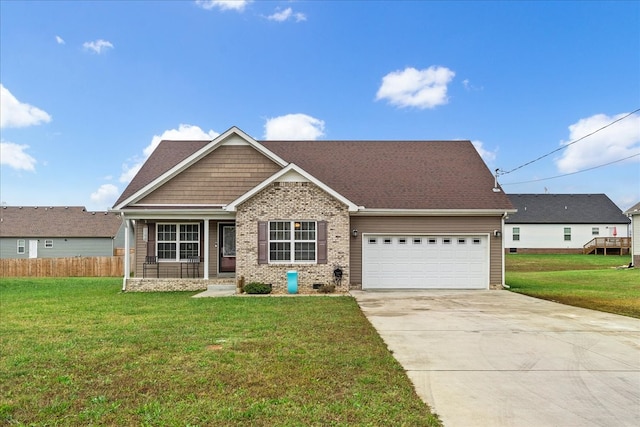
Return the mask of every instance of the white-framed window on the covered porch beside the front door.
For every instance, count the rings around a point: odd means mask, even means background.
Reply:
[[[159,260],[200,256],[200,224],[158,224],[157,245]]]

